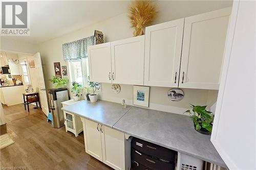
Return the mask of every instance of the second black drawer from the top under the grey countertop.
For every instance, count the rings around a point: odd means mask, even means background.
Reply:
[[[143,153],[136,151],[132,148],[132,160],[149,167],[153,170],[173,170],[175,165],[173,163],[166,163],[157,159],[154,159],[150,156],[146,156]]]

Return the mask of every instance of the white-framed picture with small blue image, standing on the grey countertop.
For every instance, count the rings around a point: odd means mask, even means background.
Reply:
[[[150,87],[133,86],[133,104],[148,107]]]

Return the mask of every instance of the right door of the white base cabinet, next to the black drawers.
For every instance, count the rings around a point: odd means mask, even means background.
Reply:
[[[103,162],[114,169],[125,169],[124,133],[102,126]]]

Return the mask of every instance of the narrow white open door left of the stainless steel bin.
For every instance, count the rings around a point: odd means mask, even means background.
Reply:
[[[48,116],[49,108],[48,108],[48,101],[47,101],[47,92],[46,92],[44,72],[42,71],[40,53],[36,53],[33,57],[35,61],[35,68],[38,75],[39,98],[40,98],[42,112],[44,112]]]

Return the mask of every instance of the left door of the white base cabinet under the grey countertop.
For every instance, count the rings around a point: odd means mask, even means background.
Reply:
[[[102,161],[101,134],[98,131],[100,125],[91,120],[84,119],[84,144],[86,153]]]

